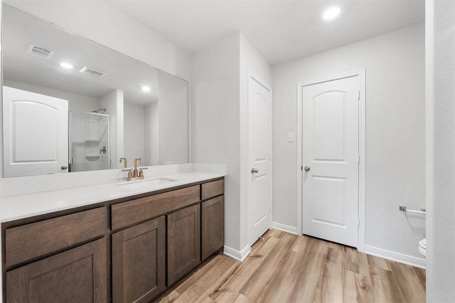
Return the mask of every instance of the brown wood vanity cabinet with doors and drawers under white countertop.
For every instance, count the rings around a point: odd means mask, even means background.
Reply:
[[[4,302],[154,299],[223,249],[224,176],[190,179],[152,191],[130,186],[141,193],[3,220]]]

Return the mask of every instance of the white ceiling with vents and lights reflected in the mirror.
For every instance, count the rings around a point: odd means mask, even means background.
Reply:
[[[96,98],[120,89],[125,102],[139,105],[158,100],[162,71],[10,6],[4,5],[2,13],[5,79]],[[31,55],[27,53],[30,43],[55,54],[49,60]],[[68,62],[74,68],[64,69],[60,62]],[[101,78],[81,74],[79,70],[84,66],[107,74]],[[151,90],[143,91],[142,85]]]

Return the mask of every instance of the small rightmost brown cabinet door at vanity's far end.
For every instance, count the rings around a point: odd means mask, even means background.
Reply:
[[[202,260],[224,245],[224,196],[204,201],[202,208]]]

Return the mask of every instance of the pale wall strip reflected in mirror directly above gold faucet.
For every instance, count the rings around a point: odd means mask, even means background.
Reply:
[[[149,159],[145,157],[144,112],[142,105],[123,103],[123,154],[130,161],[130,167],[133,165],[134,158],[142,158],[144,164],[149,163]]]

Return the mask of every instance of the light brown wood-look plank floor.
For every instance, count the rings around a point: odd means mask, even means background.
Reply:
[[[425,302],[423,269],[276,229],[263,237],[243,263],[212,257],[156,302]]]

